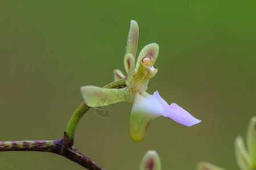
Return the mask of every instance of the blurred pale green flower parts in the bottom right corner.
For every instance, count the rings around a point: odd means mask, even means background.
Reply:
[[[243,142],[243,138],[238,136],[234,142],[235,155],[238,167],[241,170],[255,170],[256,169],[256,117],[252,117],[247,134],[246,134],[247,150]],[[216,165],[200,162],[197,165],[198,170],[226,170]]]

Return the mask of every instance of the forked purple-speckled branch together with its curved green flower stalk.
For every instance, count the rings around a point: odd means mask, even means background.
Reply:
[[[119,79],[109,83],[103,88],[123,88],[126,87],[126,78]],[[63,138],[50,141],[0,141],[0,152],[3,151],[40,151],[52,152],[65,156],[69,160],[80,164],[82,167],[101,170],[100,165],[94,163],[88,156],[83,155],[76,148],[72,147],[75,137],[77,124],[84,114],[90,109],[85,102],[82,102],[76,111],[72,114]]]

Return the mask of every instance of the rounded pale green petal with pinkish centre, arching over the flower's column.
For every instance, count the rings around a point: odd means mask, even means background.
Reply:
[[[135,73],[139,69],[139,65],[141,64],[141,61],[144,57],[152,57],[152,63],[154,65],[156,59],[158,58],[158,52],[159,52],[159,45],[156,43],[151,43],[141,50],[141,53],[139,53],[139,57],[137,59],[136,67],[135,67]]]

